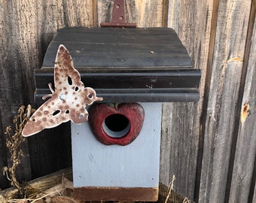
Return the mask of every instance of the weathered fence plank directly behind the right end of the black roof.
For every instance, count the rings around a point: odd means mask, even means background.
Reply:
[[[169,1],[168,24],[178,32],[194,67],[201,69],[202,77],[200,102],[163,104],[160,180],[168,184],[175,174],[175,190],[191,199],[196,190],[212,6],[213,1]]]

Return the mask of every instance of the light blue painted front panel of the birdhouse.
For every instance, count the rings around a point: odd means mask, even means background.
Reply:
[[[126,146],[104,145],[89,123],[72,123],[75,187],[158,187],[162,103],[140,103],[145,110],[142,131]]]

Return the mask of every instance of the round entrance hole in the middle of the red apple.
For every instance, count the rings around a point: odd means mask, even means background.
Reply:
[[[103,130],[111,138],[122,138],[130,131],[130,122],[122,114],[112,114],[105,118]]]

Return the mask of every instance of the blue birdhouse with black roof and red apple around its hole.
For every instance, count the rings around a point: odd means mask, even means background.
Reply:
[[[103,98],[87,108],[89,122],[71,124],[75,197],[157,201],[162,102],[197,102],[200,70],[172,29],[60,29],[35,71],[38,104],[59,44]]]

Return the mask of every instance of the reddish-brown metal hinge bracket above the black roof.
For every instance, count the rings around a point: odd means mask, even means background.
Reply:
[[[102,27],[126,27],[135,28],[136,23],[125,22],[125,4],[124,0],[114,0],[111,23],[100,23]]]

